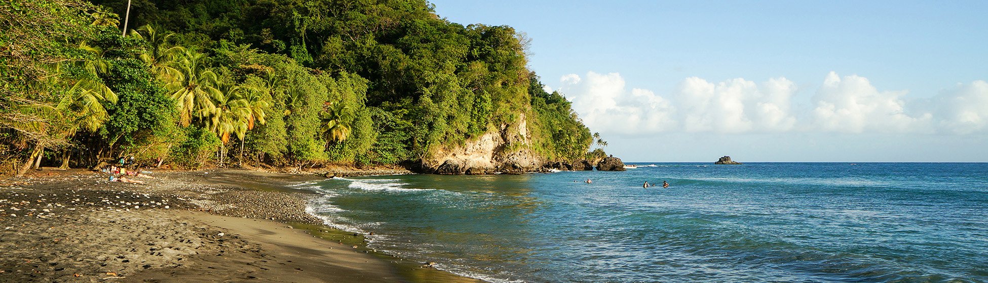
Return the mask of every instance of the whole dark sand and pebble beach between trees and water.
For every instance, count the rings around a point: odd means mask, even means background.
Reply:
[[[379,175],[377,171],[351,175]],[[341,174],[336,174],[341,175]],[[367,248],[306,213],[323,177],[84,170],[0,181],[0,281],[486,282]],[[167,207],[167,208],[166,208]]]

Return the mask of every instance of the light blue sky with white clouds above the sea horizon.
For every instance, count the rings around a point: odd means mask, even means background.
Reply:
[[[988,162],[988,1],[430,0],[624,162]]]

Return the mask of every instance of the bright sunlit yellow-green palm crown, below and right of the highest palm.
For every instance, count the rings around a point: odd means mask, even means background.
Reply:
[[[205,125],[206,117],[216,110],[213,99],[222,97],[214,86],[216,74],[206,68],[206,54],[186,50],[182,58],[172,64],[179,72],[177,80],[165,85],[168,95],[179,108],[179,122],[189,126],[196,118]]]

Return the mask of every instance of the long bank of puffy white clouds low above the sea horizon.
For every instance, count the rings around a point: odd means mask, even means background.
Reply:
[[[864,77],[831,72],[802,102],[793,100],[800,90],[785,78],[713,83],[692,77],[665,96],[628,90],[618,73],[569,74],[560,84],[558,91],[584,122],[608,133],[988,132],[984,81],[957,85],[932,99],[908,100],[905,91],[879,91]]]

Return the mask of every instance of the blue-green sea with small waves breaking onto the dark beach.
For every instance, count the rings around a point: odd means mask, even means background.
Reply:
[[[314,212],[373,232],[371,248],[492,282],[988,282],[988,164],[654,164],[317,186]]]

